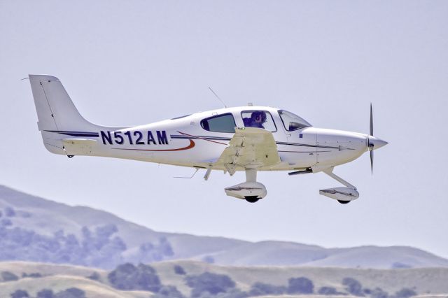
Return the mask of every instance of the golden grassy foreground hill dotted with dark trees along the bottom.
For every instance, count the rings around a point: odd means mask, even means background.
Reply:
[[[419,269],[342,269],[342,268],[311,268],[311,267],[230,267],[207,264],[194,261],[172,261],[151,264],[156,269],[164,285],[174,285],[183,295],[190,295],[190,288],[186,285],[184,275],[174,272],[174,266],[180,265],[187,275],[198,275],[206,271],[230,276],[237,284],[237,288],[248,291],[255,282],[272,285],[288,285],[288,279],[304,276],[314,283],[314,292],[321,287],[336,288],[339,292],[346,292],[342,279],[356,278],[363,288],[381,288],[393,295],[402,288],[410,288],[426,298],[433,295],[448,293],[448,269],[419,268]],[[54,292],[76,287],[84,290],[87,297],[149,297],[150,292],[120,291],[111,287],[107,274],[109,271],[76,267],[70,265],[41,264],[33,262],[0,262],[0,271],[9,271],[16,276],[22,274],[42,275],[40,278],[20,278],[18,281],[0,282],[0,297],[9,297],[15,290],[27,290],[30,295],[43,288],[50,288]],[[97,281],[87,276],[96,272]],[[448,295],[446,295],[448,296]],[[279,297],[279,296],[277,296]],[[292,296],[283,296],[292,297]],[[300,297],[304,298],[304,295]],[[312,297],[322,297],[312,295]],[[336,298],[336,296],[332,296]],[[344,296],[348,297],[348,296]],[[434,296],[435,297],[435,296]],[[267,298],[267,297],[265,297]]]

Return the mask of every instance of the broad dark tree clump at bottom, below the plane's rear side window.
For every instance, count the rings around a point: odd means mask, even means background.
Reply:
[[[186,283],[190,288],[193,288],[191,297],[200,297],[204,292],[217,295],[235,288],[235,281],[232,281],[229,276],[210,272],[204,272],[197,276],[187,276]]]

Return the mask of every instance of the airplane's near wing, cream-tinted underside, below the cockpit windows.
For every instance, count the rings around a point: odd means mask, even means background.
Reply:
[[[279,162],[272,132],[255,127],[235,127],[235,135],[215,165],[223,165],[233,175],[237,167],[256,169],[274,166]]]

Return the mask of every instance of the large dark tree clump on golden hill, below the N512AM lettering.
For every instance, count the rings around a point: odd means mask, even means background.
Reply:
[[[107,276],[114,288],[120,290],[146,290],[158,292],[160,290],[160,278],[153,267],[145,264],[123,264],[111,271]]]

